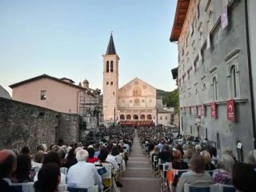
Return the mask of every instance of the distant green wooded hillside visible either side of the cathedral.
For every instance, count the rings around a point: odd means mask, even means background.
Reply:
[[[162,97],[164,104],[167,105],[167,107],[174,107],[175,109],[179,106],[179,97],[178,97],[178,89],[175,89],[173,91],[164,91],[161,89],[156,90],[156,97]],[[99,96],[100,105],[102,106],[102,98],[103,96]]]

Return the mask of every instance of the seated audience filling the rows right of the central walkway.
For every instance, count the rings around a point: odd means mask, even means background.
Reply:
[[[169,163],[169,170],[187,170],[180,177],[175,171],[170,171],[172,177],[168,180],[168,186],[171,191],[184,192],[185,183],[192,186],[201,183],[199,187],[215,183],[233,185],[240,192],[256,188],[256,150],[249,153],[247,163],[242,163],[236,160],[230,148],[217,155],[216,148],[209,145],[207,139],[201,141],[199,137],[194,140],[182,136],[176,138],[169,129],[141,128],[139,136],[141,145],[152,162],[152,168],[154,159],[157,158],[162,163]]]

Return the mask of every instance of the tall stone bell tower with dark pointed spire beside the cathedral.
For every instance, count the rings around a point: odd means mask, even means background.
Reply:
[[[104,120],[115,122],[118,97],[118,62],[111,33],[106,54],[103,55],[103,114]]]

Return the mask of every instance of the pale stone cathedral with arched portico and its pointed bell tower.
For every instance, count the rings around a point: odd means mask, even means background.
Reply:
[[[137,77],[119,88],[119,60],[111,34],[103,55],[104,120],[156,123],[156,88]]]

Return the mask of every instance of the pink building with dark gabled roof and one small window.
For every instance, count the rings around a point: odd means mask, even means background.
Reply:
[[[95,99],[95,91],[89,82],[74,84],[68,78],[56,78],[46,74],[10,85],[12,99],[49,108],[62,113],[80,113],[82,102]]]

